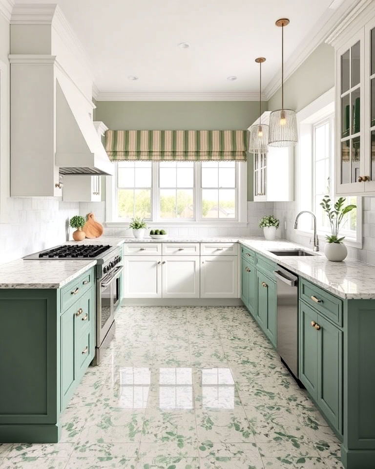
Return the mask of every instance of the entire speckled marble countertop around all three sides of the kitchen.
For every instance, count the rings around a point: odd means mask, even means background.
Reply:
[[[125,236],[101,236],[79,241],[82,244],[109,244],[120,246],[123,243],[218,243],[239,242],[262,256],[291,270],[312,283],[347,299],[375,299],[375,266],[356,260],[331,262],[323,253],[313,256],[275,256],[270,250],[311,249],[286,240],[266,241],[259,236],[174,236],[165,239],[138,239]],[[66,244],[77,244],[68,241]],[[0,288],[60,288],[95,265],[95,260],[15,260],[2,264]],[[56,267],[59,267],[58,269]]]

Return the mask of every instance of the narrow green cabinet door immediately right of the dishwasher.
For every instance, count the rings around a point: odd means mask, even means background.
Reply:
[[[318,334],[313,324],[318,314],[303,301],[299,302],[299,379],[313,398],[317,395]]]

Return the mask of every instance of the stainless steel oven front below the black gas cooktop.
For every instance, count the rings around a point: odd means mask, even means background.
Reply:
[[[97,324],[96,357],[93,364],[99,364],[101,353],[115,332],[115,311],[121,300],[122,265],[104,266],[107,272],[97,280]],[[107,267],[107,269],[105,268]]]

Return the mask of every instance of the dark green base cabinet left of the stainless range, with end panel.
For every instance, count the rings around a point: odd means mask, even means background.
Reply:
[[[31,261],[30,261],[31,262]],[[56,443],[95,354],[94,268],[62,289],[0,289],[0,442]]]

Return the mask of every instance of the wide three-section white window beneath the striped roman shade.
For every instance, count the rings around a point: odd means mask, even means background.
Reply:
[[[114,165],[110,221],[128,222],[140,216],[150,222],[246,222],[245,162],[119,161]]]

